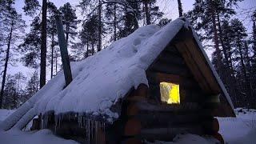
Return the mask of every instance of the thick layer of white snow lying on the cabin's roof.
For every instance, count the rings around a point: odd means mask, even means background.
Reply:
[[[154,25],[143,26],[82,62],[71,62],[74,80],[70,85],[63,89],[65,79],[61,71],[20,109],[26,111],[32,108],[31,115],[44,114],[50,110],[54,110],[55,114],[102,114],[107,115],[111,122],[112,118],[118,118],[118,114],[111,111],[110,107],[132,87],[137,88],[141,83],[148,85],[145,72],[147,68],[179,30],[188,26],[184,18],[178,18],[162,29]],[[198,42],[195,33],[194,38]],[[230,97],[200,42],[198,45],[233,108]]]

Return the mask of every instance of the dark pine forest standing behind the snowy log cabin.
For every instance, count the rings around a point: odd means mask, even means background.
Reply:
[[[158,0],[78,0],[78,6],[67,2],[60,8],[50,0],[41,1],[42,5],[38,0],[24,0],[22,10],[32,18],[29,26],[15,9],[15,0],[0,1],[0,108],[21,106],[46,84],[46,71],[54,78],[62,70],[56,14],[62,14],[73,62],[94,55],[138,27],[150,24],[162,27],[172,21],[163,17]],[[182,10],[186,1],[177,2],[179,17],[188,18],[205,48],[213,50],[212,63],[234,106],[255,109],[256,7],[245,11],[253,26],[246,30],[244,22],[234,18],[235,8],[242,0],[195,0],[193,9],[187,13]],[[78,9],[82,18],[78,18]],[[30,78],[21,72],[8,72],[8,66],[15,62],[34,69]]]

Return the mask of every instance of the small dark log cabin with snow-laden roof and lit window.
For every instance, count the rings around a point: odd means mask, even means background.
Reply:
[[[162,28],[143,26],[71,63],[71,69],[70,85],[64,86],[60,72],[15,118],[38,115],[32,130],[50,129],[82,143],[143,143],[188,133],[224,142],[215,117],[235,117],[230,96],[186,18]],[[6,130],[16,121],[6,123]]]

